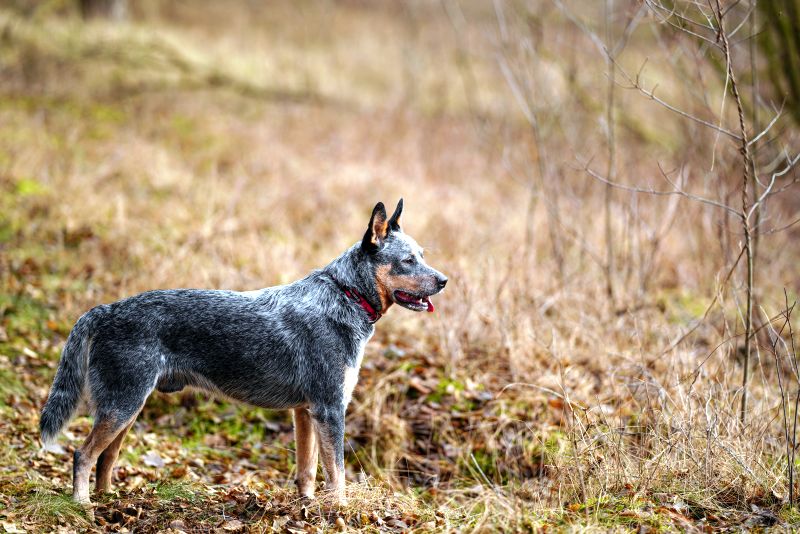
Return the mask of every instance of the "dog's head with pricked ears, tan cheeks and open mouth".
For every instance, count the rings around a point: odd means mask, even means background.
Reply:
[[[391,217],[378,202],[361,240],[361,250],[383,312],[395,302],[409,310],[432,312],[430,297],[444,289],[447,277],[425,263],[422,247],[400,226],[402,214],[402,198]]]

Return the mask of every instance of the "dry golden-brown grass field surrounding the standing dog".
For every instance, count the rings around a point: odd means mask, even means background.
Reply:
[[[291,281],[357,240],[377,200],[403,196],[407,230],[451,283],[436,314],[392,310],[367,348],[348,419],[349,479],[365,480],[350,489],[351,525],[371,524],[362,512],[387,502],[423,530],[681,530],[742,523],[753,505],[796,520],[782,506],[765,353],[749,424],[737,421],[739,272],[725,281],[736,221],[679,197],[615,192],[616,295],[606,296],[604,189],[576,159],[605,165],[605,66],[550,4],[530,20],[509,13],[506,44],[482,3],[462,6],[461,22],[439,4],[144,2],[122,25],[47,5],[0,10],[0,369],[32,369],[0,390],[4,410],[21,410],[3,428],[29,433],[25,458],[83,310],[153,288]],[[643,22],[620,64],[635,72],[648,58],[662,98],[711,117],[714,67],[664,31]],[[539,146],[497,54],[535,83]],[[706,103],[686,72],[706,80]],[[665,189],[660,163],[684,169],[695,193],[738,198],[735,146],[619,93],[620,181]],[[778,130],[797,146],[791,123]],[[761,158],[779,151],[767,145]],[[789,189],[768,226],[799,204]],[[784,287],[800,291],[797,237],[794,227],[760,242],[767,315]],[[213,422],[218,409],[197,417]],[[187,450],[202,438],[171,430],[193,417],[182,410],[159,398],[140,425],[166,434],[180,461],[208,463],[206,449]],[[227,430],[228,446],[249,450],[249,425],[263,416],[230,410],[245,423]],[[275,443],[288,435],[277,432]],[[131,440],[127,469],[147,446]],[[285,491],[288,450],[258,465],[276,480],[242,484]],[[6,485],[20,476],[3,473]],[[58,489],[68,477],[40,482]]]

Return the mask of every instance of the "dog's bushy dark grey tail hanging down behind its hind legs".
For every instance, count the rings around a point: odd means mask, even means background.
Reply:
[[[44,445],[55,441],[78,409],[86,381],[94,326],[101,313],[99,306],[89,310],[78,319],[69,333],[50,395],[39,418],[39,430]]]

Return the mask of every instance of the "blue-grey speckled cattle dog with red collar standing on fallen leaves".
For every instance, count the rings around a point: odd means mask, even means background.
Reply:
[[[89,474],[107,491],[125,434],[154,389],[186,386],[264,408],[294,410],[297,487],[313,497],[318,453],[326,489],[344,501],[344,416],[374,323],[397,303],[433,311],[447,278],[425,264],[378,203],[363,239],[327,267],[284,286],[243,293],[149,291],[84,314],[67,338],[42,410],[42,441],[81,399],[94,426],[75,451],[73,498],[89,503]]]

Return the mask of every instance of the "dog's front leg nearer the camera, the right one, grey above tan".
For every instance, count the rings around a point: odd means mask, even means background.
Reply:
[[[344,405],[315,406],[311,417],[317,430],[325,489],[339,504],[347,504],[344,494]]]

